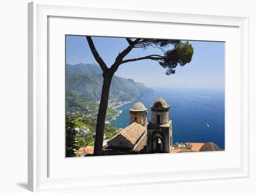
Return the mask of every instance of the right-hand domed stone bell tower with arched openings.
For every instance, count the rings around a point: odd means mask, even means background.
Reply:
[[[147,126],[147,152],[170,153],[172,146],[172,120],[170,105],[161,97],[151,105],[151,121]]]

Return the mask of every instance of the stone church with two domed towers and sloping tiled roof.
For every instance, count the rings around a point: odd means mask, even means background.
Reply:
[[[130,125],[109,140],[108,148],[141,150],[147,153],[170,153],[172,146],[172,121],[169,120],[170,105],[157,98],[151,105],[151,121],[148,123],[148,109],[137,102],[130,109]]]

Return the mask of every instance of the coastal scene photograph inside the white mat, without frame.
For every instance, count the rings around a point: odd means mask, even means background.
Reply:
[[[66,158],[225,151],[225,42],[68,34],[65,49]]]

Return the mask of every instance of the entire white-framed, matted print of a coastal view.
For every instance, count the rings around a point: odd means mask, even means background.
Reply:
[[[29,190],[248,177],[247,17],[28,8]]]

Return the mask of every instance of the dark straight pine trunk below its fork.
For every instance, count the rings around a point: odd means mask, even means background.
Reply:
[[[101,102],[100,102],[99,112],[97,117],[96,135],[95,135],[95,142],[94,142],[94,155],[101,155],[102,153],[105,118],[106,118],[106,113],[108,108],[108,96],[109,96],[111,80],[112,80],[112,75],[108,76],[103,73]]]

